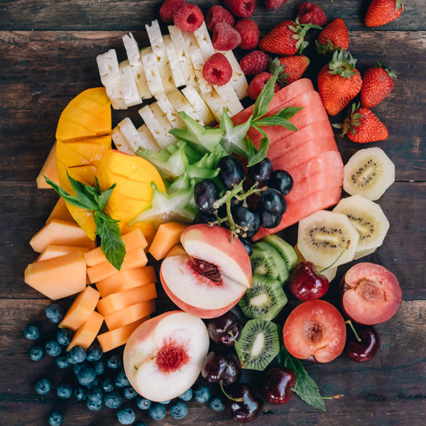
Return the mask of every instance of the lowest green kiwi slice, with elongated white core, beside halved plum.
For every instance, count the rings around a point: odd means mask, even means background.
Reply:
[[[235,349],[243,368],[264,370],[280,351],[277,324],[259,319],[247,321]]]

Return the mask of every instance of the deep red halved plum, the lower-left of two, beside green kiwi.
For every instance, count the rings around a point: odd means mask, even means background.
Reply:
[[[290,312],[284,323],[283,339],[287,350],[296,358],[329,362],[342,354],[346,325],[331,303],[309,300]]]

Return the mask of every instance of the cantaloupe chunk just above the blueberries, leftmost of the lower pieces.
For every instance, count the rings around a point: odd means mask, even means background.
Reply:
[[[77,330],[92,315],[100,296],[99,291],[90,286],[86,287],[72,302],[70,309],[67,310],[58,327]]]

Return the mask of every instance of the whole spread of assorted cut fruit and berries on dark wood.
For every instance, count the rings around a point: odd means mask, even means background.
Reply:
[[[284,3],[265,2],[268,9]],[[378,25],[376,3],[368,26]],[[183,418],[182,401],[200,375],[223,397],[210,398],[201,386],[195,399],[226,408],[238,422],[256,418],[263,401],[288,403],[292,393],[325,410],[324,399],[342,395],[322,397],[298,359],[324,363],[346,351],[368,361],[379,346],[372,326],[400,306],[395,275],[368,262],[344,275],[339,309],[321,299],[338,266],[383,244],[390,224],[375,201],[395,180],[378,147],[344,165],[329,115],[360,93],[362,107],[351,107],[342,134],[359,143],[386,138],[370,108],[388,96],[395,75],[378,63],[363,80],[337,18],[318,36],[317,50],[332,59],[317,92],[301,78],[310,64],[301,53],[307,31],[327,22],[324,11],[303,3],[295,21],[260,38],[250,19],[255,7],[254,0],[225,1],[204,22],[194,4],[166,0],[160,18],[174,24],[168,34],[158,21],[146,25],[151,46],[142,50],[124,35],[127,60],[119,62],[115,50],[99,55],[104,87],[82,92],[60,116],[37,178],[60,200],[30,241],[40,255],[25,281],[51,300],[76,297],[65,315],[48,307],[57,339],[30,353],[72,365],[75,398],[90,410],[118,409],[123,397],[139,395],[138,408],[161,420],[180,398],[170,415]],[[238,46],[252,50],[240,62],[231,50]],[[254,75],[250,84],[246,75]],[[384,83],[374,92],[376,79]],[[247,94],[256,102],[244,109]],[[112,128],[111,106],[141,104],[140,127],[126,118]],[[293,224],[294,247],[276,235]],[[157,276],[180,310],[158,312]],[[301,302],[278,320],[288,297]],[[34,340],[40,333],[28,326],[24,334]],[[104,353],[111,370],[124,366],[114,380]],[[239,383],[242,368],[268,368],[263,398],[253,383]],[[62,383],[59,398],[69,398],[70,388]],[[48,393],[48,379],[35,391]],[[124,425],[136,420],[130,406],[117,417]],[[61,422],[61,413],[51,413],[50,425]]]

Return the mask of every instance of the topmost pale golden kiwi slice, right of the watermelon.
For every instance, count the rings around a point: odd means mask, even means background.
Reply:
[[[356,151],[344,165],[343,189],[350,195],[378,200],[395,182],[395,164],[377,147]]]

